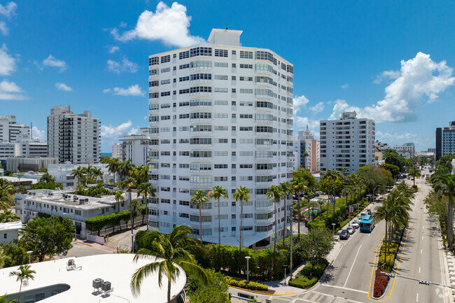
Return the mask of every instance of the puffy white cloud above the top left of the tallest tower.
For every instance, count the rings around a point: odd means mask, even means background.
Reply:
[[[180,48],[204,43],[204,38],[190,35],[188,30],[190,21],[191,17],[186,15],[186,6],[174,2],[169,8],[164,2],[160,1],[156,6],[155,13],[145,10],[139,15],[134,29],[120,33],[115,28],[111,30],[111,34],[119,41],[130,41],[135,38],[150,41],[158,40],[166,45]]]

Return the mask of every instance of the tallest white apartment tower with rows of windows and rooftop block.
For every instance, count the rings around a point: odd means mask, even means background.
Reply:
[[[240,44],[242,31],[213,29],[207,44],[151,55],[149,61],[150,224],[202,232],[218,243],[218,206],[190,206],[195,190],[222,185],[221,242],[239,244],[240,202],[232,192],[251,190],[244,203],[243,245],[273,242],[274,202],[265,193],[290,181],[293,171],[293,64],[271,50]],[[283,230],[283,202],[277,206]]]

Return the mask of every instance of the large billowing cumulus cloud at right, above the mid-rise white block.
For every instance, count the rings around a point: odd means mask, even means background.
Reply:
[[[358,108],[345,100],[335,101],[330,119],[339,118],[341,111],[357,111],[358,117],[371,118],[376,122],[409,122],[416,120],[416,112],[422,99],[436,101],[440,93],[455,84],[453,69],[445,61],[439,63],[430,55],[418,52],[416,57],[401,61],[399,73],[387,71],[388,78],[395,78],[386,88],[384,99],[377,104]],[[384,73],[383,73],[384,74]]]

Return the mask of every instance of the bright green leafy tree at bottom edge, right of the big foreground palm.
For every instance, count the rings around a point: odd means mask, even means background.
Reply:
[[[188,298],[192,303],[230,303],[228,281],[220,272],[206,269],[213,284],[204,284],[197,277],[188,276]]]

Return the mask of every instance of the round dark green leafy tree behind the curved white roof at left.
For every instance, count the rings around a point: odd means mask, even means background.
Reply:
[[[56,254],[66,255],[73,247],[73,232],[74,227],[69,218],[34,218],[19,231],[18,242],[43,261],[45,255],[51,258]]]

